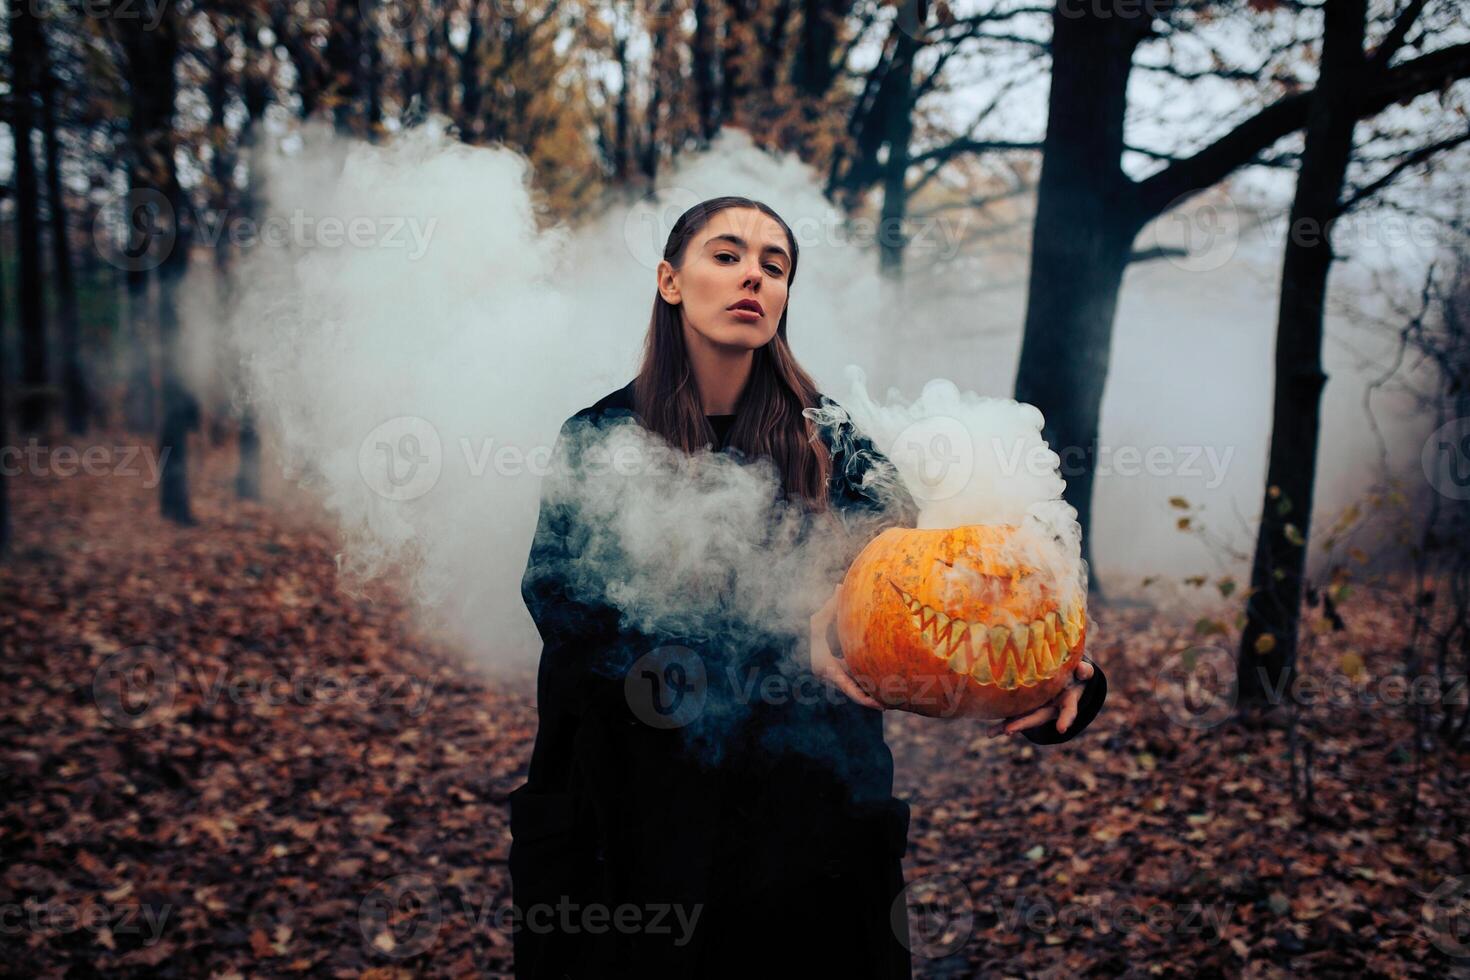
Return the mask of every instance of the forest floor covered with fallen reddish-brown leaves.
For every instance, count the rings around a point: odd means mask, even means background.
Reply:
[[[506,976],[529,677],[417,635],[394,582],[337,591],[329,522],[234,500],[226,450],[194,527],[93,469],[9,480],[0,973]],[[1414,777],[1386,602],[1304,652],[1357,686],[1298,710],[1301,801],[1288,730],[1186,701],[1192,620],[1092,614],[1108,701],[1072,743],[886,716],[916,977],[1470,976],[1470,754]]]

